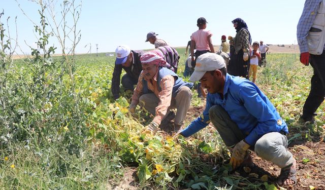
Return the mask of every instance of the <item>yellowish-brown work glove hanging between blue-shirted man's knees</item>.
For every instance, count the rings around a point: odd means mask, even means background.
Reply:
[[[249,146],[250,145],[244,142],[244,140],[241,140],[235,145],[233,148],[232,157],[230,158],[230,164],[232,165],[233,169],[237,168],[243,163]]]

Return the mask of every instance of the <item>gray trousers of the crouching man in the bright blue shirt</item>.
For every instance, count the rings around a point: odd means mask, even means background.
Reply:
[[[226,146],[233,147],[247,136],[220,105],[210,108],[209,117]],[[259,138],[251,148],[257,156],[283,168],[294,162],[293,155],[286,149],[287,146],[288,140],[285,135],[270,132]]]

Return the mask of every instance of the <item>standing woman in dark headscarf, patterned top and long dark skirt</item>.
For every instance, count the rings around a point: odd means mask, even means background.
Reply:
[[[234,48],[230,52],[231,57],[227,70],[229,74],[248,79],[251,36],[243,19],[236,18],[232,23],[237,33],[233,39]]]

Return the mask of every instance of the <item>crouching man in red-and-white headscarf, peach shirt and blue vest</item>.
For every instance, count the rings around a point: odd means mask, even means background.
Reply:
[[[142,72],[129,107],[135,112],[137,104],[147,109],[154,118],[146,126],[145,133],[155,133],[166,113],[177,108],[174,125],[180,127],[189,108],[192,83],[186,83],[172,70],[164,67],[166,61],[153,52],[144,53],[141,58]]]

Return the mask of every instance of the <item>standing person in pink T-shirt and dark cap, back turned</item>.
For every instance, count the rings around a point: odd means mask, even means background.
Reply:
[[[207,30],[207,20],[203,17],[200,17],[197,21],[197,26],[199,27],[199,30],[192,33],[191,35],[191,65],[194,69],[196,65],[196,60],[198,57],[202,54],[211,52],[214,53],[214,48],[211,40],[212,32],[210,30]],[[196,48],[196,52],[194,54],[194,48]],[[195,59],[194,59],[195,56]],[[206,93],[204,89],[201,87],[201,83],[198,84],[198,93],[199,97],[203,95],[203,97],[206,97]]]

